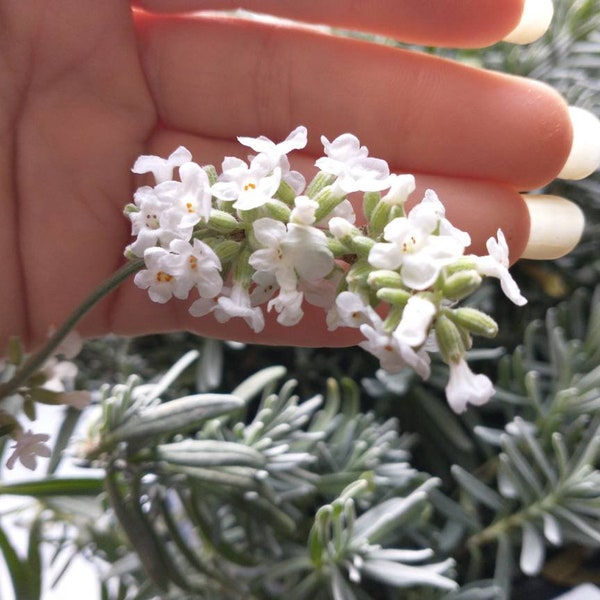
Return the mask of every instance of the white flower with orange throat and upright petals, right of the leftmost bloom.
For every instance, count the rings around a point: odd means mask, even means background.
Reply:
[[[179,226],[187,228],[200,221],[208,221],[212,210],[212,194],[206,171],[194,162],[179,168],[181,181],[165,181],[154,191],[159,198],[168,201],[169,210],[176,211]]]

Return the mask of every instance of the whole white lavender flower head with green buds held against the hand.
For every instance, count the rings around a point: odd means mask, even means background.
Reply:
[[[389,372],[412,367],[426,379],[429,353],[439,352],[456,412],[485,403],[493,386],[471,372],[465,355],[472,335],[494,336],[497,325],[457,303],[484,276],[497,277],[516,304],[526,302],[508,272],[502,231],[488,240],[488,256],[465,254],[469,235],[446,219],[435,192],[407,212],[414,177],[390,173],[354,135],[321,138],[324,156],[308,185],[288,160],[306,146],[305,127],[278,144],[238,139],[256,154],[225,158],[220,174],[183,147],[167,159],[138,158],[133,172],[152,173],[156,183],[140,187],[125,210],[136,236],[126,255],[145,263],[136,285],[160,303],[195,290],[192,315],[241,317],[255,332],[265,308],[294,326],[305,302],[322,307],[329,329],[360,329],[359,345]],[[354,192],[363,194],[360,226],[348,199]]]

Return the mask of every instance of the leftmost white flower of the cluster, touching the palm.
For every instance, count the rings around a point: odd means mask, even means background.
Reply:
[[[170,203],[156,193],[156,188],[139,188],[134,202],[140,210],[129,213],[129,218],[131,233],[137,235],[137,239],[128,250],[136,256],[143,256],[145,250],[157,244],[166,248],[176,238],[190,239],[193,226],[181,224],[180,215],[169,210]]]

